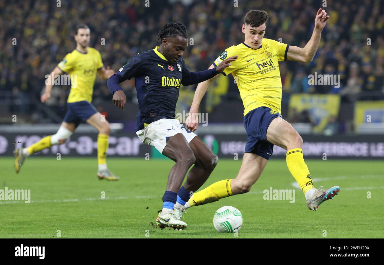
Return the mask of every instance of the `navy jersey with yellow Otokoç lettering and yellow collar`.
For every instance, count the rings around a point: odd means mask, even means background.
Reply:
[[[139,101],[136,131],[158,119],[175,118],[181,84],[187,86],[199,83],[218,74],[216,69],[203,71],[204,74],[190,72],[183,57],[170,64],[157,48],[137,54],[115,74],[120,83],[135,78]]]

